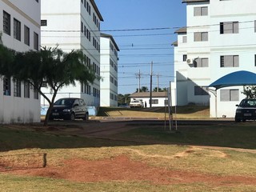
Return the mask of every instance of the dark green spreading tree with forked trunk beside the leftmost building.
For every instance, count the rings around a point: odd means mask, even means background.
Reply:
[[[2,58],[2,54],[10,54],[8,61]],[[34,90],[46,98],[49,109],[46,113],[44,126],[48,124],[50,111],[54,106],[54,100],[63,86],[75,82],[84,84],[93,83],[99,78],[90,66],[85,65],[85,56],[82,50],[72,50],[64,53],[58,47],[52,49],[42,48],[40,51],[14,52],[0,45],[0,75],[9,75],[20,81],[29,82]],[[53,92],[52,98],[47,98],[42,93],[42,86],[47,86]]]

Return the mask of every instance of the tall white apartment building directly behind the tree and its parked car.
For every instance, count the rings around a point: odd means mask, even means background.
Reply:
[[[42,0],[42,46],[61,48],[63,51],[83,50],[86,65],[100,75],[100,22],[103,21],[94,0]],[[44,93],[51,98],[50,90]],[[97,110],[100,105],[100,81],[67,86],[58,92],[58,98],[78,97],[87,106]],[[41,98],[42,106],[48,103]]]

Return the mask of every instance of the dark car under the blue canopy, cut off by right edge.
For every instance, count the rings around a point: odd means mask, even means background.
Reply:
[[[246,122],[246,120],[256,120],[256,98],[245,98],[240,102],[234,120],[235,122]]]

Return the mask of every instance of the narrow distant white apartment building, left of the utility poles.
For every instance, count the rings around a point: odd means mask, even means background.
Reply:
[[[101,106],[118,106],[118,45],[101,34]]]

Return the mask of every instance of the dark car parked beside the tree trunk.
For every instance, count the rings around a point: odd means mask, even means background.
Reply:
[[[89,119],[86,102],[82,98],[60,98],[54,102],[50,119],[62,118],[74,121],[75,118]]]

